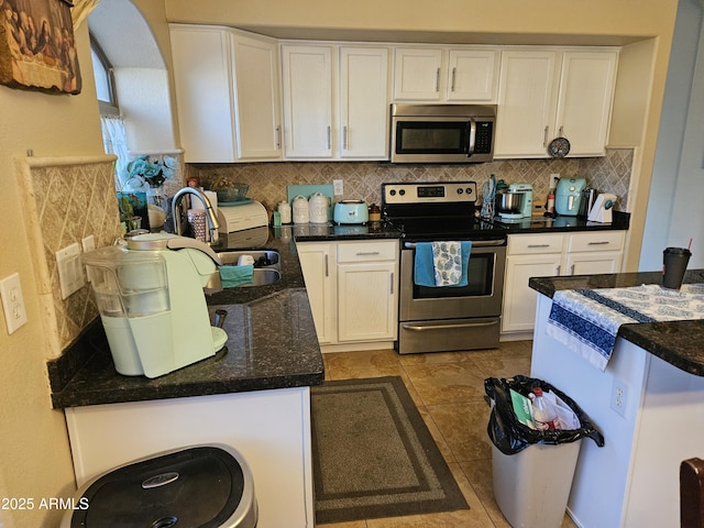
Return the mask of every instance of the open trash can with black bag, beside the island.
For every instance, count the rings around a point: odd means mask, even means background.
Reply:
[[[551,391],[576,415],[578,429],[540,431],[514,410],[510,391],[528,396],[534,388]],[[583,438],[598,447],[604,437],[584,411],[547,382],[527,376],[484,381],[492,405],[487,427],[492,440],[494,497],[513,527],[559,528],[570,497]]]

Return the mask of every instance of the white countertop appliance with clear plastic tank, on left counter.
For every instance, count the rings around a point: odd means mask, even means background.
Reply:
[[[148,233],[84,255],[116,370],[153,378],[215,355],[204,286],[219,258],[186,237]]]

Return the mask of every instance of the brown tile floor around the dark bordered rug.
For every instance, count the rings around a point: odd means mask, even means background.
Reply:
[[[323,354],[327,380],[400,376],[464,493],[469,510],[323,525],[328,528],[505,528],[492,488],[486,377],[530,374],[531,341],[498,349],[398,355],[393,350]],[[575,525],[565,515],[562,528]]]

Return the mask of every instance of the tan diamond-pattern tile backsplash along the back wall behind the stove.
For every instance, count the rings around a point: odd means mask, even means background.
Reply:
[[[551,174],[585,177],[602,193],[618,197],[617,209],[628,211],[628,186],[634,163],[632,148],[608,148],[603,157],[562,160],[503,160],[475,165],[392,165],[376,162],[250,163],[242,165],[198,164],[187,166],[187,176],[197,176],[208,188],[222,176],[250,185],[248,196],[273,211],[286,199],[287,185],[344,183],[344,199],[381,201],[381,186],[391,182],[474,180],[479,188],[494,174],[508,184],[528,183],[535,199],[544,200]]]

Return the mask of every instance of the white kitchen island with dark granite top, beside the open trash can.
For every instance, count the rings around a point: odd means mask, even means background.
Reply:
[[[661,274],[531,278],[538,296],[531,376],[573,398],[604,435],[582,442],[570,515],[584,528],[680,526],[680,463],[704,455],[704,321],[622,324],[602,372],[548,334],[557,290],[659,284]],[[689,271],[685,283],[703,283]]]

